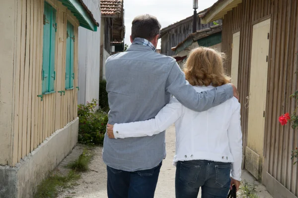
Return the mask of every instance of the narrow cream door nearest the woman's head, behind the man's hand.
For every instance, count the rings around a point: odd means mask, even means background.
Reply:
[[[233,34],[232,43],[232,61],[231,61],[231,83],[237,87],[238,82],[238,64],[240,48],[240,31]]]

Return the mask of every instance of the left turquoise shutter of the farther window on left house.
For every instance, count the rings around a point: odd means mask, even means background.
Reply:
[[[70,77],[71,77],[71,23],[67,22],[67,35],[66,35],[66,65],[65,65],[65,88],[69,89],[70,88]]]

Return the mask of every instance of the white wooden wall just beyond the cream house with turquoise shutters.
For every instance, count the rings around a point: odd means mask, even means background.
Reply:
[[[97,22],[101,22],[100,0],[83,0]],[[78,103],[99,97],[100,26],[96,32],[78,28]]]

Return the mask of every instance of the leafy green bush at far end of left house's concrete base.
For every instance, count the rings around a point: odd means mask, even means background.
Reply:
[[[85,145],[102,145],[108,115],[98,110],[95,111],[97,100],[93,99],[86,105],[79,104],[77,115],[79,117],[78,142]]]

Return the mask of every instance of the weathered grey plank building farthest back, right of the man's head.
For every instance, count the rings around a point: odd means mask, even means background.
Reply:
[[[203,16],[206,10],[198,13],[197,30],[210,28],[210,26],[214,25],[213,22],[216,22],[218,24],[222,23],[221,19],[211,21],[208,24],[201,23],[201,16]],[[184,41],[184,39],[186,39],[191,33],[193,33],[193,16],[187,17],[186,19],[183,19],[161,29],[159,36],[159,38],[161,39],[160,53],[168,56],[175,55],[175,52],[172,50],[172,48],[176,47],[179,43]]]

